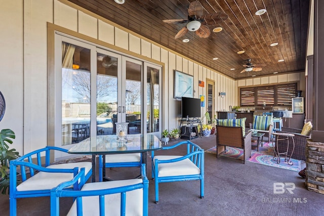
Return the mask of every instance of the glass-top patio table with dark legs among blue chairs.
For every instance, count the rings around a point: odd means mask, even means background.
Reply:
[[[142,162],[146,163],[146,152],[161,148],[162,143],[155,135],[128,135],[127,142],[117,142],[116,135],[98,135],[75,144],[68,152],[71,154],[92,154],[92,182],[95,182],[96,155],[140,152],[143,153]]]

